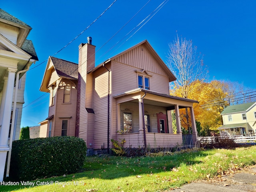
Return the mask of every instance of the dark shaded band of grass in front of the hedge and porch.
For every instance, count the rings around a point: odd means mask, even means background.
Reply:
[[[55,184],[55,182],[79,183],[81,181],[86,182],[86,180],[90,179],[114,180],[116,178],[143,174],[160,174],[161,172],[171,172],[173,168],[178,168],[181,164],[186,164],[188,166],[202,164],[203,162],[201,160],[196,160],[198,157],[204,158],[213,154],[214,153],[211,154],[210,151],[197,151],[157,157],[86,157],[84,166],[78,173],[25,183],[30,185],[24,185],[22,182],[19,182],[19,185],[0,185],[0,191],[12,191],[38,185]]]

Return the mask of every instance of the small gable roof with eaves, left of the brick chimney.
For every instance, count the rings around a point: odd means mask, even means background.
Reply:
[[[49,57],[44,71],[44,76],[40,86],[40,91],[48,92],[48,82],[52,73],[52,67],[49,68],[50,62],[52,62],[54,70],[56,71],[59,77],[78,80],[78,64],[59,59],[56,57]]]

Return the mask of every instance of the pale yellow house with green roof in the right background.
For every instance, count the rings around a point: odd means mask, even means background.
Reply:
[[[221,113],[221,134],[251,136],[256,132],[256,102],[231,105]]]

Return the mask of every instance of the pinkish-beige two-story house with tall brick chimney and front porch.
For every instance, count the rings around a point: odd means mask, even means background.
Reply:
[[[46,136],[78,136],[94,153],[109,151],[111,139],[125,140],[125,148],[171,148],[182,144],[179,109],[187,107],[196,140],[192,105],[197,101],[171,96],[174,80],[147,40],[95,67],[95,46],[88,37],[79,46],[78,64],[48,59],[40,87],[50,92]]]

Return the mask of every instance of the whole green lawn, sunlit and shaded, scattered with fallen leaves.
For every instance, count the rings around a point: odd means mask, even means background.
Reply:
[[[256,164],[256,146],[236,149],[185,150],[168,156],[87,157],[80,173],[30,181],[26,186],[1,185],[19,192],[155,192],[208,179]]]

